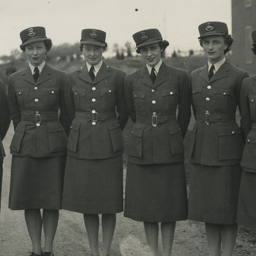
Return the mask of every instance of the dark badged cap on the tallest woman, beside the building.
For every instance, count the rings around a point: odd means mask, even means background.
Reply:
[[[227,24],[224,22],[206,22],[198,27],[201,39],[207,35],[228,35],[228,28]]]

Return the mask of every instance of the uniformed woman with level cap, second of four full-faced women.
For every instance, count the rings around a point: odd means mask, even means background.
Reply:
[[[123,138],[129,117],[125,73],[102,61],[106,33],[83,29],[80,50],[86,63],[63,81],[71,131],[63,188],[63,209],[83,214],[91,255],[99,255],[99,214],[102,255],[110,253],[116,213],[123,210]],[[118,116],[116,114],[118,113]]]

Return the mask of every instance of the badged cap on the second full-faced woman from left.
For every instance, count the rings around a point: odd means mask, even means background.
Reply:
[[[83,29],[80,44],[106,46],[106,32],[99,29]]]

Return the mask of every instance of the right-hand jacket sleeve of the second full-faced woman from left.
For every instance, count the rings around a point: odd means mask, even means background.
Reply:
[[[120,128],[123,131],[128,118],[129,113],[126,107],[125,98],[124,98],[124,77],[125,73],[122,72],[118,76],[118,85],[117,85],[117,113],[118,113],[118,120],[120,123]]]

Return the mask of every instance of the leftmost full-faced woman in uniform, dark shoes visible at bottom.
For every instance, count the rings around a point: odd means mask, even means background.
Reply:
[[[45,56],[52,47],[45,28],[25,29],[20,32],[20,38],[20,49],[29,63],[27,68],[8,79],[8,102],[15,130],[10,146],[9,208],[25,210],[32,241],[30,256],[52,256],[67,154],[67,135],[60,123],[65,123],[61,97],[65,73],[45,63]],[[43,209],[42,216],[40,209]]]

